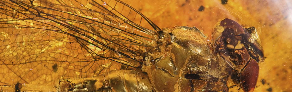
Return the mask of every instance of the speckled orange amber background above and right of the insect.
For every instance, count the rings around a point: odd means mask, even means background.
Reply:
[[[291,0],[228,0],[225,5],[221,4],[221,0],[122,1],[139,10],[160,28],[195,26],[211,37],[215,23],[226,17],[246,26],[255,26],[266,59],[260,63],[260,75],[254,91],[292,91]],[[198,11],[200,6],[205,7],[204,11]]]

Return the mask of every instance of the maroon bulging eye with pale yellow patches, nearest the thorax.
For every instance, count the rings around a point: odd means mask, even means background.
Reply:
[[[226,18],[217,23],[212,36],[215,52],[233,69],[242,70],[250,59],[242,26]]]

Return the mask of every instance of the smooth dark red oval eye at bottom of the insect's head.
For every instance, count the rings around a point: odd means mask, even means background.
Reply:
[[[255,59],[251,59],[240,75],[240,84],[244,92],[253,92],[259,75],[259,65]]]

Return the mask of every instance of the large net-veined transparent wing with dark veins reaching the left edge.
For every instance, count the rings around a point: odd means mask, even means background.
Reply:
[[[156,47],[156,33],[133,20],[74,6],[0,1],[0,84],[50,85],[102,75],[121,64],[138,67]]]

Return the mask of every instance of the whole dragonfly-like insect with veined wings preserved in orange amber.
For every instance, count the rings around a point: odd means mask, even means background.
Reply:
[[[118,0],[0,5],[0,68],[13,72],[0,83],[15,84],[2,90],[228,91],[232,81],[247,92],[263,61],[256,30],[227,18],[212,41],[195,27],[161,30]]]

